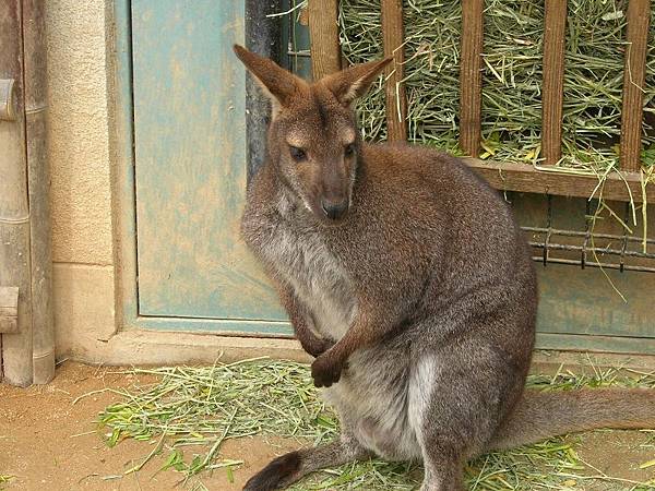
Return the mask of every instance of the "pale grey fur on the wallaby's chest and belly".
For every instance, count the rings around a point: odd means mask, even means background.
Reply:
[[[337,342],[357,313],[352,280],[315,235],[299,237],[284,227],[277,232],[267,259],[311,312],[317,334]],[[323,392],[342,427],[388,459],[420,458],[414,429],[427,404],[425,379],[431,369],[429,362],[419,363],[428,367],[422,371],[410,369],[409,351],[409,333],[359,349],[340,382]]]

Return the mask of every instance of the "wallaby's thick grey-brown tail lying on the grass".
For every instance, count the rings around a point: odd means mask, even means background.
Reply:
[[[655,390],[526,391],[488,450],[596,428],[655,428]]]

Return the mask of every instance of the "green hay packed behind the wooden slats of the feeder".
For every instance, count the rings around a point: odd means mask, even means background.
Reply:
[[[602,172],[618,164],[627,3],[569,1],[561,165]],[[405,0],[403,4],[408,137],[457,152],[461,2]],[[381,57],[380,0],[342,0],[340,5],[345,58],[356,63]],[[486,2],[481,158],[539,161],[543,25],[543,0]],[[645,165],[655,163],[655,47],[651,46]],[[373,87],[359,109],[364,136],[384,139],[382,84]]]

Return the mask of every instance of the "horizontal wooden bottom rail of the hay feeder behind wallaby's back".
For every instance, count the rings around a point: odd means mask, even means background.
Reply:
[[[529,164],[499,163],[465,158],[465,163],[493,188],[501,191],[521,191],[560,196],[590,197],[598,179],[595,176],[581,176],[560,171],[537,170]],[[603,185],[606,200],[641,203],[641,175],[638,172],[611,172]],[[628,191],[630,189],[630,192]],[[595,194],[598,196],[598,193]],[[655,203],[655,183],[646,185],[646,202]]]

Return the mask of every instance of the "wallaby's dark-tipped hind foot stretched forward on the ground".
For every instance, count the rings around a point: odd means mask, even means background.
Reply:
[[[243,491],[284,489],[314,470],[364,459],[369,455],[355,438],[342,435],[326,445],[301,448],[277,457],[250,478]]]

